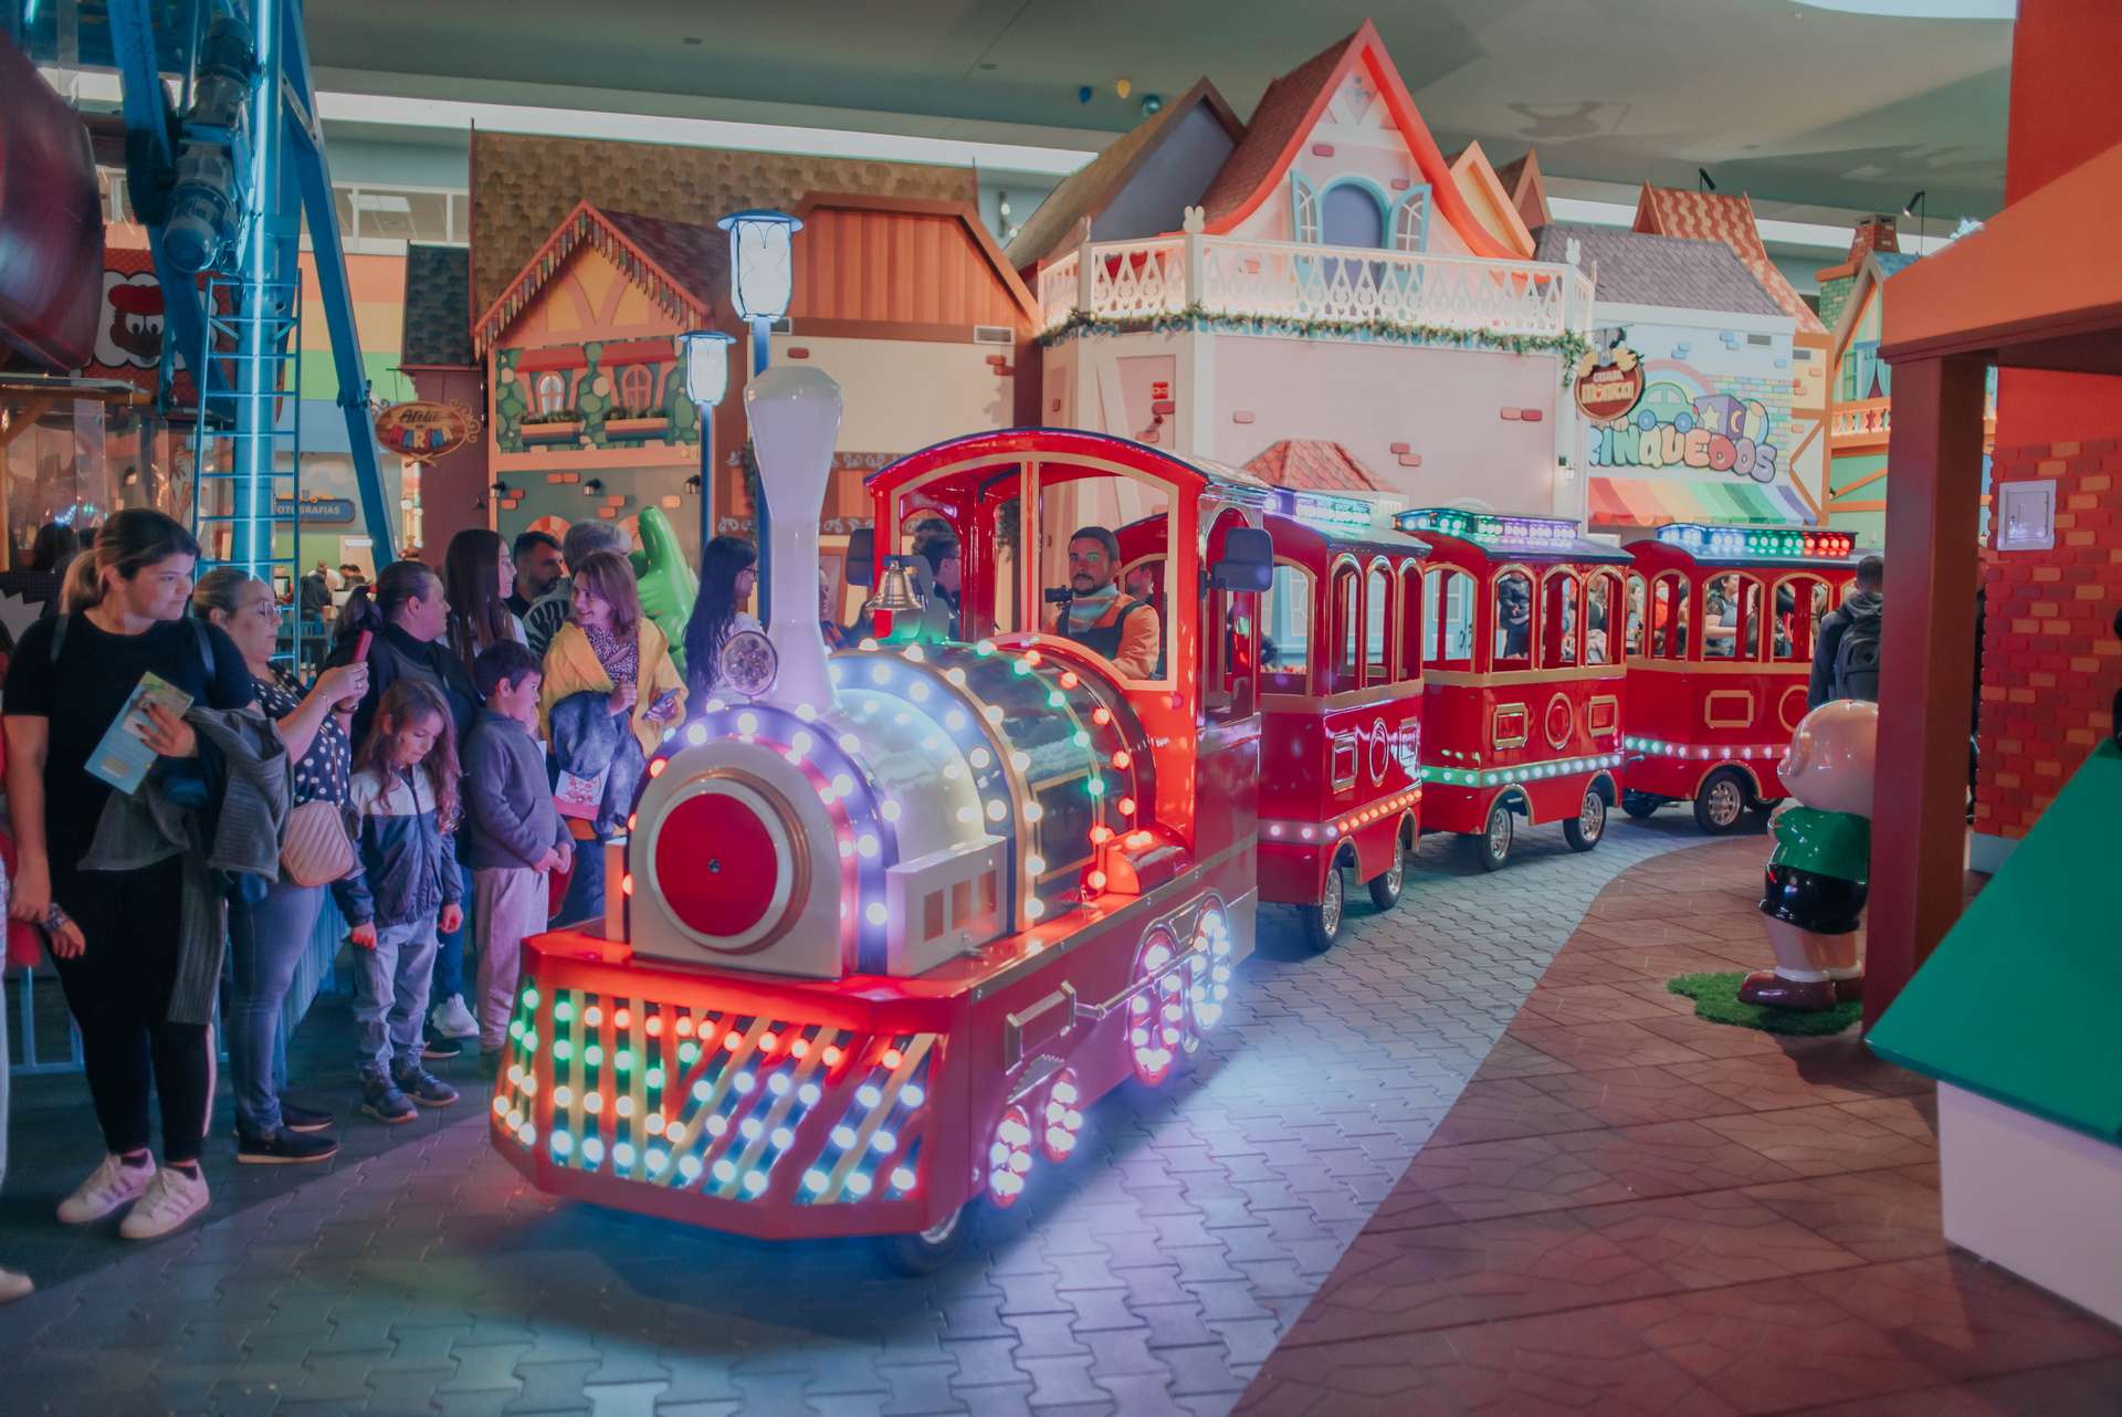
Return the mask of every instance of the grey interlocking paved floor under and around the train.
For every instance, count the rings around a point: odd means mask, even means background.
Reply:
[[[1099,1103],[1078,1156],[929,1279],[868,1245],[768,1247],[530,1192],[486,1145],[469,1067],[467,1103],[393,1131],[352,1118],[331,1167],[236,1167],[216,1141],[210,1220],[127,1245],[51,1222],[98,1143],[79,1080],[28,1080],[0,1264],[42,1288],[0,1309],[0,1411],[1220,1415],[1600,889],[1700,844],[1679,812],[1617,821],[1589,855],[1530,832],[1485,876],[1439,838],[1403,906],[1364,906],[1322,959],[1269,912],[1197,1067]],[[352,1109],[342,1003],[291,1054],[293,1095]]]

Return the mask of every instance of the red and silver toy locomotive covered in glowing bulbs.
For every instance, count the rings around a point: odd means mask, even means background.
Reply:
[[[779,367],[745,399],[772,624],[649,762],[603,929],[526,942],[494,1145],[541,1190],[925,1269],[1222,1018],[1258,899],[1269,490],[1074,431],[940,443],[870,477],[876,545],[957,530],[970,643],[828,660],[838,388]],[[1146,515],[1195,594],[1129,675],[1050,628],[1074,528]]]

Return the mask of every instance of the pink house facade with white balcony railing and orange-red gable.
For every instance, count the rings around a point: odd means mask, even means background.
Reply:
[[[1479,148],[1439,151],[1369,23],[1248,123],[1203,81],[1010,248],[1040,418],[1233,467],[1335,443],[1409,503],[1581,515],[1564,375],[1592,278],[1534,259],[1517,197]]]

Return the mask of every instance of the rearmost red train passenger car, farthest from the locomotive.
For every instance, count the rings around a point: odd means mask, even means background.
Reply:
[[[1776,764],[1806,717],[1821,617],[1857,583],[1855,537],[1672,524],[1630,547],[1621,808],[1689,802],[1734,832],[1782,800]]]

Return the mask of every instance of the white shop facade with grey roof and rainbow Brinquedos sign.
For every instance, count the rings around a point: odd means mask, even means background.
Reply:
[[[1816,522],[1791,454],[1797,320],[1723,244],[1553,223],[1536,255],[1577,244],[1594,274],[1594,350],[1579,363],[1589,518],[1600,530],[1666,522]]]

